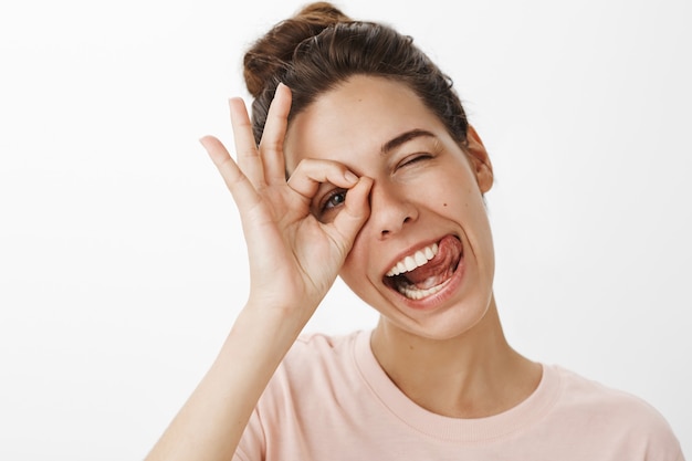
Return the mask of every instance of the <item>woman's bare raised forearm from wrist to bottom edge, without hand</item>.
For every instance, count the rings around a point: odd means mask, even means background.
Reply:
[[[302,328],[290,318],[247,306],[147,461],[230,460],[262,391]]]

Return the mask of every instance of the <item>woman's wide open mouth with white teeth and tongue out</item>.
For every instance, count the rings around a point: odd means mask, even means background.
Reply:
[[[385,274],[384,282],[409,300],[422,300],[447,285],[462,256],[461,241],[447,235],[397,262]]]

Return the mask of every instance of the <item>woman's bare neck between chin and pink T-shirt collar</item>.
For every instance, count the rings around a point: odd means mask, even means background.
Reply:
[[[375,357],[411,400],[457,418],[497,415],[537,387],[541,365],[507,344],[494,298],[483,318],[449,339],[413,335],[381,318],[373,333]]]

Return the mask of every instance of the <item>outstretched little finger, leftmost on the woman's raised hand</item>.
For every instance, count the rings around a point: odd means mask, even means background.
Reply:
[[[233,196],[233,200],[238,203],[238,208],[242,210],[256,205],[260,198],[254,187],[233,161],[223,144],[213,136],[205,136],[200,143],[207,149],[211,161],[217,166],[226,186]]]

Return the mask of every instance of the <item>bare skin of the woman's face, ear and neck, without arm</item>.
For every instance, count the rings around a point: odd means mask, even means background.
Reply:
[[[412,130],[424,135],[382,150]],[[339,275],[381,314],[373,350],[405,394],[437,413],[473,418],[504,411],[535,389],[539,366],[510,348],[497,318],[483,202],[493,174],[475,130],[462,148],[406,85],[355,76],[294,118],[284,150],[289,171],[323,159],[374,181],[369,219]],[[334,188],[323,185],[315,201]],[[322,219],[342,211],[335,206]],[[453,290],[411,302],[382,282],[402,255],[445,235],[463,244],[463,277]]]

